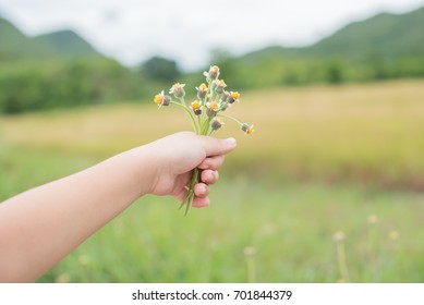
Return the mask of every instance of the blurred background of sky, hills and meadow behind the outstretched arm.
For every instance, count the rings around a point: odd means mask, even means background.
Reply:
[[[210,64],[256,130],[211,206],[146,196],[39,282],[423,282],[422,0],[0,0],[0,202],[190,130],[153,97]]]

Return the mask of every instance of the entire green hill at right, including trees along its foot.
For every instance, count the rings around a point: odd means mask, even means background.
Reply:
[[[424,8],[351,23],[315,45],[223,58],[242,88],[424,76]]]

